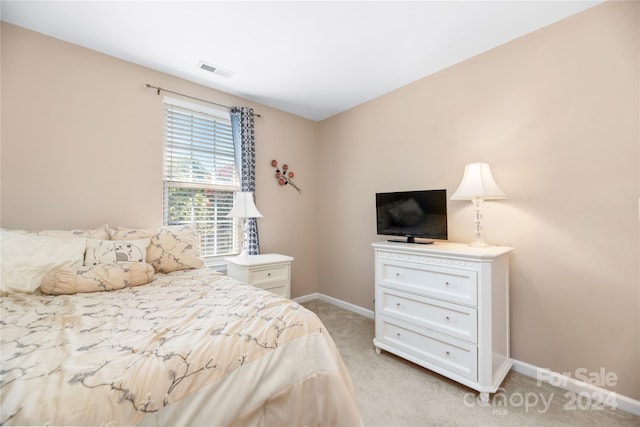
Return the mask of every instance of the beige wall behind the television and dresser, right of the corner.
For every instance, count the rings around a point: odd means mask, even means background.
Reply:
[[[376,192],[451,195],[488,162],[510,196],[483,212],[485,238],[515,247],[513,357],[604,367],[639,399],[638,6],[605,3],[324,121],[320,292],[373,307]],[[449,239],[470,241],[471,203],[448,208]]]

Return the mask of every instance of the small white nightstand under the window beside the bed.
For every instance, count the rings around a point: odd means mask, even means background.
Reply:
[[[291,262],[280,254],[237,256],[224,259],[227,276],[274,294],[291,298]]]

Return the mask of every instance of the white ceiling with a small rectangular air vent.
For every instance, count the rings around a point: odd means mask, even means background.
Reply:
[[[1,1],[3,21],[312,120],[601,2]]]

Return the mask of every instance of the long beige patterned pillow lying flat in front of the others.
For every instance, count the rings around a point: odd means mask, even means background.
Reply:
[[[51,295],[112,291],[144,285],[151,279],[153,267],[145,262],[61,267],[50,271],[44,277],[40,290]]]

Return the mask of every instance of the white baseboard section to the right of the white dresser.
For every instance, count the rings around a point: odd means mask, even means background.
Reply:
[[[629,412],[634,415],[640,415],[640,401],[627,396],[620,395],[613,391],[598,387],[580,381],[577,378],[553,372],[549,369],[539,368],[526,362],[519,360],[513,361],[511,369],[514,372],[535,378],[540,382],[560,387],[564,390],[574,392],[580,397],[582,394],[585,399],[580,399],[578,403],[590,403],[598,407],[615,407],[621,411]],[[584,376],[583,376],[584,378]]]

